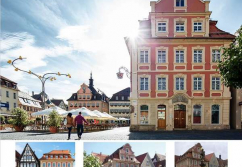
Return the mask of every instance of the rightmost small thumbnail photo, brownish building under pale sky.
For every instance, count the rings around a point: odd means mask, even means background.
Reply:
[[[228,143],[176,142],[175,167],[228,167]]]

